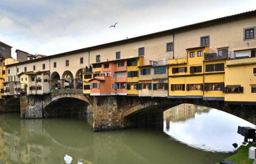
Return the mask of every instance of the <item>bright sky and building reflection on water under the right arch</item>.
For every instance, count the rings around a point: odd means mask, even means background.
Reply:
[[[164,112],[164,132],[191,147],[212,152],[234,151],[241,144],[237,126],[255,126],[241,118],[204,106],[182,104]]]

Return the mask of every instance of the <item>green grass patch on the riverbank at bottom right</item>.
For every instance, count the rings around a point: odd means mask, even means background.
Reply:
[[[249,147],[254,146],[256,147],[256,145],[254,144],[248,144],[248,145],[241,145],[237,151],[234,153],[234,155],[225,158],[224,160],[230,161],[230,162],[234,162],[234,163],[238,163],[238,164],[253,164],[253,159],[249,160]],[[219,162],[217,162],[216,164],[219,164]]]

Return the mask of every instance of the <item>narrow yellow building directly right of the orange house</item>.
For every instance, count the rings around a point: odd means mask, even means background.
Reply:
[[[127,95],[139,95],[139,66],[143,66],[143,56],[127,60]]]

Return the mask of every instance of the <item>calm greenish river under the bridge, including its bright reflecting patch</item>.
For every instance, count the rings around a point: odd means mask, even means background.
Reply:
[[[255,126],[189,104],[166,110],[163,122],[146,128],[96,133],[84,117],[0,114],[0,164],[212,164],[241,144],[238,125]]]

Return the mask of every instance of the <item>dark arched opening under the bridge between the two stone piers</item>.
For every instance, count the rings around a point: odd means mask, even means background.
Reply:
[[[88,105],[86,101],[73,97],[55,99],[44,108],[43,117],[65,117],[86,114]]]

